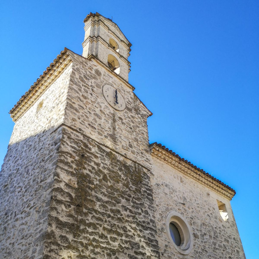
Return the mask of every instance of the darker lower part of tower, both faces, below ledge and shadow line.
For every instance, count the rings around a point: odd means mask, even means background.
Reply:
[[[64,125],[2,165],[1,258],[160,258],[148,169]]]

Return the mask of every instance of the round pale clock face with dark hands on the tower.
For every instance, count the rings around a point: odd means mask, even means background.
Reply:
[[[111,105],[114,109],[118,111],[123,111],[126,107],[125,100],[122,94],[115,87],[106,84],[103,89],[103,96],[105,100]]]

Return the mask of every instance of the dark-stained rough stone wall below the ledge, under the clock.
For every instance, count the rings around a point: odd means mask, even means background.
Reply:
[[[44,259],[160,258],[150,172],[63,127]]]

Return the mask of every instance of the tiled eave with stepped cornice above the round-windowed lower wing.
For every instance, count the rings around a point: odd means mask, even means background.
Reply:
[[[210,189],[220,193],[225,198],[232,200],[236,191],[231,187],[222,183],[220,180],[206,173],[204,170],[197,168],[189,161],[181,158],[168,148],[165,148],[161,144],[153,143],[150,145],[151,155],[165,162],[166,164],[177,169],[177,171],[189,176],[197,182],[209,187]]]

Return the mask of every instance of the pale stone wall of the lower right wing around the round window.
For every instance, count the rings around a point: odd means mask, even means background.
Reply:
[[[154,174],[151,184],[156,207],[157,240],[163,254],[161,258],[244,259],[229,200],[152,158]],[[226,204],[229,215],[226,222],[219,214],[217,199]],[[192,229],[193,249],[188,255],[180,254],[169,241],[165,223],[170,211],[180,213]]]

